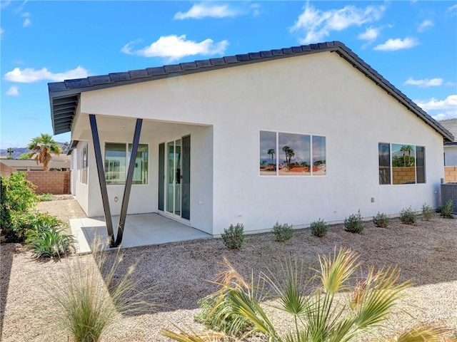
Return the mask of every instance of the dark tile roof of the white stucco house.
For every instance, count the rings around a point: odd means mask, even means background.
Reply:
[[[408,110],[443,135],[443,138],[446,141],[453,141],[453,135],[448,132],[446,128],[443,128],[442,125],[418,107],[416,103],[413,103],[405,94],[401,93],[400,90],[389,83],[383,76],[371,68],[371,66],[365,63],[356,53],[353,53],[350,48],[340,41],[293,46],[291,48],[280,48],[235,56],[210,58],[201,61],[172,64],[169,66],[126,71],[124,73],[109,73],[108,75],[102,76],[89,76],[87,78],[66,80],[64,82],[48,83],[52,128],[54,134],[71,131],[71,125],[73,124],[74,115],[79,103],[79,95],[84,91],[124,86],[131,83],[154,81],[170,76],[181,76],[189,73],[230,68],[231,66],[271,61],[278,58],[288,58],[324,51],[338,53],[339,56],[348,61],[348,63],[351,63],[358,71],[364,73],[371,81],[376,83],[377,86],[383,88],[388,95],[396,98],[399,103],[403,104]]]

